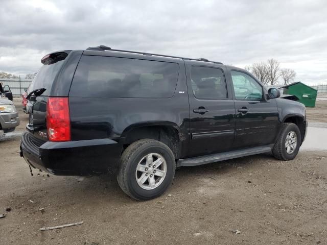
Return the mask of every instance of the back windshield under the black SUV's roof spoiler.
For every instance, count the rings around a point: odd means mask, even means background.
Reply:
[[[37,72],[31,86],[29,87],[28,93],[39,88],[45,88],[46,90],[41,94],[41,96],[48,96],[50,93],[51,85],[58,74],[63,60],[60,60],[51,65],[43,65],[41,69]]]

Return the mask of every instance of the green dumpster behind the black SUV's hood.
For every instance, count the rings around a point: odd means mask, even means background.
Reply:
[[[295,82],[283,87],[283,94],[295,95],[298,102],[306,107],[315,107],[317,99],[317,90],[301,82]]]

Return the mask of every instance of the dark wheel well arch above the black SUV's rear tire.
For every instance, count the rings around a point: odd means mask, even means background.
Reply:
[[[144,126],[128,131],[124,140],[124,149],[139,139],[155,139],[168,145],[176,159],[180,156],[181,142],[177,129],[171,126]]]

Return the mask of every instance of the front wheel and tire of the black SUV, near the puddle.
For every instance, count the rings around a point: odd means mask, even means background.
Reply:
[[[289,137],[289,134],[292,135],[292,132],[296,134],[296,146],[294,148],[286,148],[286,137]],[[288,138],[289,139],[289,138]],[[285,123],[279,133],[277,142],[272,149],[272,154],[275,158],[279,160],[293,160],[299,149],[301,144],[301,133],[298,127],[295,124]],[[288,152],[289,151],[289,152]]]

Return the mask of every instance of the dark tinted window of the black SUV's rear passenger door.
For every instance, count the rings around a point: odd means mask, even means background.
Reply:
[[[219,100],[227,98],[223,71],[218,68],[192,66],[193,94],[197,99]]]

